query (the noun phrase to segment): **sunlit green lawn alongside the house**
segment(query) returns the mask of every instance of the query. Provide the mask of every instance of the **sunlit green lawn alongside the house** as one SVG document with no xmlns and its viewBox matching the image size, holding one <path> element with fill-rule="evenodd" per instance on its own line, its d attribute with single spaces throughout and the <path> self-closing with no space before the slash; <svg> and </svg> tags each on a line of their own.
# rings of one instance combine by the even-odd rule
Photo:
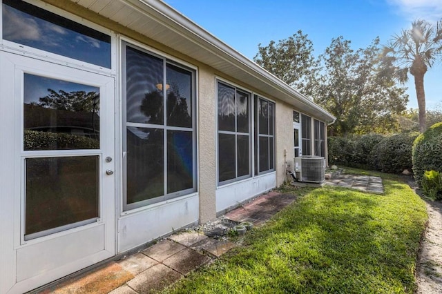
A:
<svg viewBox="0 0 442 294">
<path fill-rule="evenodd" d="M 165 292 L 413 293 L 425 204 L 399 177 L 376 175 L 385 195 L 285 188 L 294 204 Z"/>
</svg>

